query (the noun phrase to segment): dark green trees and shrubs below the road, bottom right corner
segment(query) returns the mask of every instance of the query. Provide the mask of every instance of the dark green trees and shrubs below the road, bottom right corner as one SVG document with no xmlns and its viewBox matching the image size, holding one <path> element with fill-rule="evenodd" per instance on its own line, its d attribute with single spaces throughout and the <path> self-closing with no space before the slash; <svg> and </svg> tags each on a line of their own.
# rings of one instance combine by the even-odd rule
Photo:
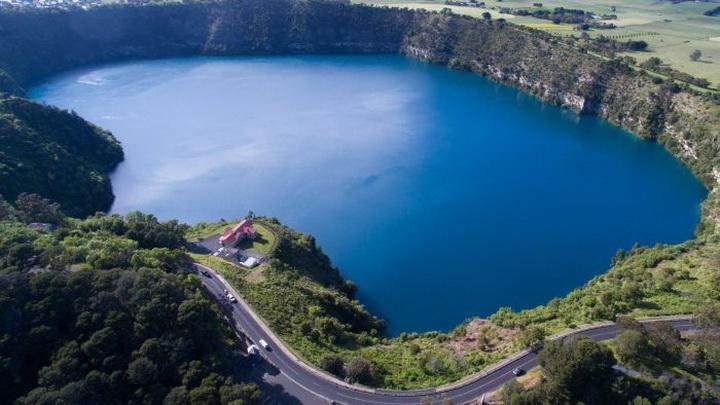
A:
<svg viewBox="0 0 720 405">
<path fill-rule="evenodd" d="M 700 332 L 687 337 L 668 323 L 623 317 L 610 344 L 584 337 L 548 342 L 532 379 L 511 381 L 492 397 L 517 405 L 716 404 L 719 309 L 701 309 L 695 320 Z"/>
</svg>

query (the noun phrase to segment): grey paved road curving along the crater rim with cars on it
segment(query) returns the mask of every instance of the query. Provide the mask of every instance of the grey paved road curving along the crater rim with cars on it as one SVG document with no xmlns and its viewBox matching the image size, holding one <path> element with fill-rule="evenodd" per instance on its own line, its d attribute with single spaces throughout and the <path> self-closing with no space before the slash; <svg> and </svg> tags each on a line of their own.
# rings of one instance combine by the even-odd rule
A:
<svg viewBox="0 0 720 405">
<path fill-rule="evenodd" d="M 529 370 L 537 364 L 537 355 L 525 351 L 487 373 L 480 373 L 462 383 L 437 389 L 386 391 L 353 387 L 299 360 L 282 346 L 277 337 L 221 276 L 201 264 L 196 263 L 195 268 L 198 272 L 202 269 L 209 272 L 209 277 L 201 275 L 202 283 L 219 302 L 226 302 L 223 294 L 225 289 L 239 299 L 231 310 L 235 327 L 255 343 L 260 339 L 270 343 L 271 350 L 263 351 L 263 357 L 279 370 L 281 375 L 276 376 L 276 382 L 303 404 L 328 404 L 330 401 L 353 405 L 419 404 L 424 398 L 430 399 L 432 403 L 440 403 L 444 397 L 449 397 L 455 404 L 479 404 L 479 398 L 483 393 L 493 391 L 514 378 L 513 369 L 520 367 Z M 694 329 L 689 317 L 672 319 L 668 322 L 680 331 Z M 615 325 L 609 324 L 578 331 L 572 335 L 581 334 L 601 341 L 615 337 L 616 333 Z"/>
</svg>

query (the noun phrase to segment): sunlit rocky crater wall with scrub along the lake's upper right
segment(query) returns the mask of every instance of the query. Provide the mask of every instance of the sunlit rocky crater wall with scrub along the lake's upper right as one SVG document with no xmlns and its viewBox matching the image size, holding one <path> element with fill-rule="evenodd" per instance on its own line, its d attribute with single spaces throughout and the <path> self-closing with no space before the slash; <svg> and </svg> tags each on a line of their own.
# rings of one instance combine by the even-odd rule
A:
<svg viewBox="0 0 720 405">
<path fill-rule="evenodd" d="M 416 14 L 401 51 L 519 87 L 545 101 L 597 114 L 663 143 L 714 187 L 720 173 L 720 106 L 629 67 L 501 21 Z"/>
</svg>

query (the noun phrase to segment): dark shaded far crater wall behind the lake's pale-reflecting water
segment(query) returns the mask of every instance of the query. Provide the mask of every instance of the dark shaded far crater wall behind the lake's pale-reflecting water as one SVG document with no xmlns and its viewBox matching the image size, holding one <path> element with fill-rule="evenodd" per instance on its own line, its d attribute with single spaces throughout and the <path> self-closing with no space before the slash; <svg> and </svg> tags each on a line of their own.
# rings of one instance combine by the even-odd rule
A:
<svg viewBox="0 0 720 405">
<path fill-rule="evenodd" d="M 128 58 L 397 53 L 411 18 L 409 11 L 312 0 L 0 13 L 0 69 L 27 83 Z"/>
</svg>

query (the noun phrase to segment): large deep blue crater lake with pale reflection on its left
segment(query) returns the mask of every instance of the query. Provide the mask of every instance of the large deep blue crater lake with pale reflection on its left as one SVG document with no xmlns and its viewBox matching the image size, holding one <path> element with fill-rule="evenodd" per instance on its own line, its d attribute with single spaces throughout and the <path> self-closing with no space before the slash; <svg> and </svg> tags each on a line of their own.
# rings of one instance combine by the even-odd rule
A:
<svg viewBox="0 0 720 405">
<path fill-rule="evenodd" d="M 391 335 L 561 296 L 619 248 L 691 238 L 706 195 L 657 144 L 400 56 L 140 61 L 30 95 L 122 141 L 113 212 L 276 216 Z"/>
</svg>

